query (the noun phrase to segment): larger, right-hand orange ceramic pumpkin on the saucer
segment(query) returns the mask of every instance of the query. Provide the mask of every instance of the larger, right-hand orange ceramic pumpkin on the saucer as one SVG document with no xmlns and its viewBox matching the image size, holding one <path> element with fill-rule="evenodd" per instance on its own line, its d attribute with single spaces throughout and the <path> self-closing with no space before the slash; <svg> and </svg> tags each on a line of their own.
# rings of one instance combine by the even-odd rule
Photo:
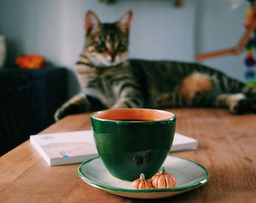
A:
<svg viewBox="0 0 256 203">
<path fill-rule="evenodd" d="M 176 185 L 175 177 L 172 174 L 167 173 L 164 168 L 161 168 L 160 172 L 154 174 L 151 177 L 151 186 L 157 188 L 171 188 Z"/>
</svg>

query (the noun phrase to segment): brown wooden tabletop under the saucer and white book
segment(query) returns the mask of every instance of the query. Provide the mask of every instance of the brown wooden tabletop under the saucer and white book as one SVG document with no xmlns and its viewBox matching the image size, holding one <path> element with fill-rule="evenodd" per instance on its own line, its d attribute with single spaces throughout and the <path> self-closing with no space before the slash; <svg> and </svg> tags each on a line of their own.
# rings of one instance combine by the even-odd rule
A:
<svg viewBox="0 0 256 203">
<path fill-rule="evenodd" d="M 197 138 L 197 150 L 172 153 L 199 162 L 206 185 L 171 198 L 123 198 L 87 185 L 79 164 L 50 167 L 29 141 L 0 158 L 0 202 L 256 202 L 256 114 L 219 109 L 172 109 L 177 132 Z M 69 116 L 41 133 L 90 129 L 90 114 Z"/>
</svg>

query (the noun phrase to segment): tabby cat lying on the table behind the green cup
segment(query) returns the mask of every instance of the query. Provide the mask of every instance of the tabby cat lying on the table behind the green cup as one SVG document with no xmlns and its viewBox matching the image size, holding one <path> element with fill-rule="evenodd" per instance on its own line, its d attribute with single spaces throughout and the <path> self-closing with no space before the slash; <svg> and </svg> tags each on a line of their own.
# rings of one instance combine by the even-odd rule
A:
<svg viewBox="0 0 256 203">
<path fill-rule="evenodd" d="M 127 59 L 132 12 L 116 23 L 85 15 L 86 43 L 75 72 L 81 93 L 55 114 L 107 108 L 228 108 L 232 114 L 256 109 L 256 88 L 220 71 L 187 62 Z"/>
</svg>

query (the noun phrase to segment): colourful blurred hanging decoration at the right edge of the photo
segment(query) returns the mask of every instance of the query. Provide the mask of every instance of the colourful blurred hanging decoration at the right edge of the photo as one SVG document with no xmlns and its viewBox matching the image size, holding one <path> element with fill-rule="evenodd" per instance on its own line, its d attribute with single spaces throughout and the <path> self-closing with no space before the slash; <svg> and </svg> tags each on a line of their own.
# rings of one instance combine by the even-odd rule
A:
<svg viewBox="0 0 256 203">
<path fill-rule="evenodd" d="M 245 29 L 249 29 L 251 23 L 254 20 L 253 12 L 250 9 L 248 9 L 245 12 L 245 18 L 246 18 L 246 24 Z M 255 59 L 255 50 L 256 50 L 256 36 L 255 32 L 253 33 L 252 37 L 247 41 L 245 44 L 245 65 L 248 68 L 247 71 L 245 71 L 245 80 L 248 86 L 256 86 L 256 74 L 255 74 L 255 66 L 256 66 L 256 59 Z"/>
</svg>

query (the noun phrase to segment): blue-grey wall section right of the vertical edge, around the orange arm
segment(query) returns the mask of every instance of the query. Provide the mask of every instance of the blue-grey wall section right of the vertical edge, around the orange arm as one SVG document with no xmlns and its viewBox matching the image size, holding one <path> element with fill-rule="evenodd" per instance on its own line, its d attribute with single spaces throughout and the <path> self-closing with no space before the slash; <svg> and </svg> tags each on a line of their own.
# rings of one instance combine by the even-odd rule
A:
<svg viewBox="0 0 256 203">
<path fill-rule="evenodd" d="M 242 0 L 236 10 L 227 7 L 224 0 L 200 1 L 199 28 L 197 38 L 197 53 L 207 53 L 236 47 L 245 33 L 245 11 L 249 8 L 247 1 Z M 246 67 L 245 53 L 239 56 L 223 56 L 204 61 L 218 70 L 224 71 L 231 77 L 244 80 Z"/>
</svg>

